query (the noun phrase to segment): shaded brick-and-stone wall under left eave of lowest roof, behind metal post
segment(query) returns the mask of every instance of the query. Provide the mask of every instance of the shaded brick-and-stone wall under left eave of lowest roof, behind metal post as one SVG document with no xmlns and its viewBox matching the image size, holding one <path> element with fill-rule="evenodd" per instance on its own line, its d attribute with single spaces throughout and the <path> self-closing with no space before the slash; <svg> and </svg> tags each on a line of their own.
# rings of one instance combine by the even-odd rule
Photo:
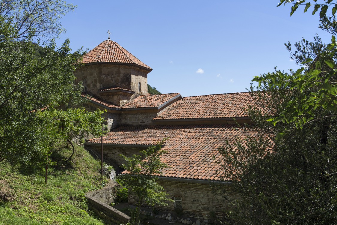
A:
<svg viewBox="0 0 337 225">
<path fill-rule="evenodd" d="M 101 146 L 89 145 L 87 146 L 95 151 L 96 155 L 101 155 Z M 121 172 L 120 166 L 125 163 L 120 154 L 130 157 L 133 154 L 140 154 L 139 152 L 147 147 L 120 147 L 120 146 L 104 146 L 103 145 L 103 162 L 109 163 L 115 168 L 116 173 Z"/>
</svg>

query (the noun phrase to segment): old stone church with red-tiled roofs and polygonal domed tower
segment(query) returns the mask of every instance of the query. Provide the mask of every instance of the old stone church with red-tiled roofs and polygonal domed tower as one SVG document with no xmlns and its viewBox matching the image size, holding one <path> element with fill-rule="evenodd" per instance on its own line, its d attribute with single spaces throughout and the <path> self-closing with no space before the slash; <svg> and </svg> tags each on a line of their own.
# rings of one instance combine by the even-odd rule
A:
<svg viewBox="0 0 337 225">
<path fill-rule="evenodd" d="M 216 176 L 217 149 L 247 135 L 236 123 L 251 123 L 244 110 L 253 102 L 250 94 L 148 94 L 152 69 L 110 38 L 85 54 L 83 63 L 75 76 L 76 82 L 83 82 L 84 94 L 90 95 L 87 108 L 106 110 L 110 132 L 103 137 L 103 161 L 119 173 L 119 154 L 138 154 L 169 138 L 163 146 L 168 153 L 161 160 L 170 167 L 158 180 L 174 200 L 165 209 L 223 216 L 238 196 Z M 100 138 L 85 143 L 97 155 L 100 145 Z M 212 192 L 210 184 L 219 182 L 228 186 L 225 193 Z M 129 202 L 135 199 L 130 196 Z"/>
</svg>

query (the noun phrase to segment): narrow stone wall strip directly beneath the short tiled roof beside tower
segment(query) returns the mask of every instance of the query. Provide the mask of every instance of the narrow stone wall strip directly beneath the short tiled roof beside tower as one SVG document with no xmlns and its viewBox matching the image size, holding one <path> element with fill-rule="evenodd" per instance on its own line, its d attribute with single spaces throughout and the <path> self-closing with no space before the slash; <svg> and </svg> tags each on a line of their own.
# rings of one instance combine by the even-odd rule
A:
<svg viewBox="0 0 337 225">
<path fill-rule="evenodd" d="M 125 113 L 121 115 L 121 124 L 127 125 L 153 125 L 152 119 L 157 113 Z"/>
</svg>

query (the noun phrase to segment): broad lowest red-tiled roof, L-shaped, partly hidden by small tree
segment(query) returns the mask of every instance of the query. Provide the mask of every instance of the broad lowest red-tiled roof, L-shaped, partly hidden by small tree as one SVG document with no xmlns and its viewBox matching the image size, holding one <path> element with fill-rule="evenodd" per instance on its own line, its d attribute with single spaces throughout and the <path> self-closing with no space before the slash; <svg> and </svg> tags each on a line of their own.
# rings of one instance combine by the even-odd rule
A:
<svg viewBox="0 0 337 225">
<path fill-rule="evenodd" d="M 133 145 L 155 145 L 165 137 L 169 139 L 163 147 L 168 153 L 161 161 L 170 168 L 162 170 L 164 177 L 189 178 L 201 180 L 219 180 L 215 176 L 220 159 L 218 147 L 226 141 L 234 143 L 236 138 L 256 135 L 250 129 L 236 125 L 163 125 L 163 126 L 122 126 L 107 136 L 103 143 Z M 100 138 L 88 143 L 100 143 Z M 212 157 L 215 156 L 216 160 Z"/>
</svg>

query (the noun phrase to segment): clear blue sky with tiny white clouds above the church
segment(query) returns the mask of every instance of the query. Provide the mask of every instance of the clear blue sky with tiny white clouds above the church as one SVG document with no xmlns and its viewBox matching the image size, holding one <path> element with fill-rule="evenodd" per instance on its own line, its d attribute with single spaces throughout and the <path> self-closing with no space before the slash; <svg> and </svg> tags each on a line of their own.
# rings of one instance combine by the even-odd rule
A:
<svg viewBox="0 0 337 225">
<path fill-rule="evenodd" d="M 108 38 L 150 66 L 148 83 L 182 96 L 246 91 L 254 76 L 298 66 L 284 43 L 318 33 L 319 17 L 278 0 L 72 0 L 61 20 L 73 50 Z M 236 3 L 236 4 L 234 4 Z"/>
</svg>

